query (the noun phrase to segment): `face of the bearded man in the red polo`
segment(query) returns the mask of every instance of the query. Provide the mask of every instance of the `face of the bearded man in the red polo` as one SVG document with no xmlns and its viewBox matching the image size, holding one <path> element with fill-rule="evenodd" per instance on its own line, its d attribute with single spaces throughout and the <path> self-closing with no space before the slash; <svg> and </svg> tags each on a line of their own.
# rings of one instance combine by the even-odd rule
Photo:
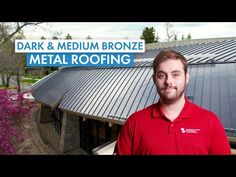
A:
<svg viewBox="0 0 236 177">
<path fill-rule="evenodd" d="M 180 60 L 170 59 L 159 64 L 153 80 L 160 99 L 171 104 L 184 97 L 189 75 L 185 74 Z"/>
</svg>

